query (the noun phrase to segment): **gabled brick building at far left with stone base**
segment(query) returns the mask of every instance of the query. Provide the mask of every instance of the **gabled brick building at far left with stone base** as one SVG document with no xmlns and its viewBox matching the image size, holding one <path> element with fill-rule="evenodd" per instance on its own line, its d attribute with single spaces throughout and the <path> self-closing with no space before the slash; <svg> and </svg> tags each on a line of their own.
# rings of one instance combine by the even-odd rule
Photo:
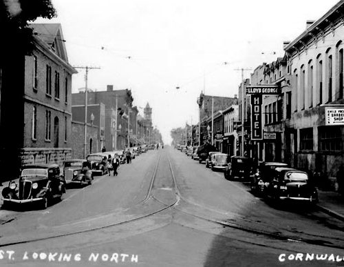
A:
<svg viewBox="0 0 344 267">
<path fill-rule="evenodd" d="M 71 156 L 76 70 L 68 63 L 60 24 L 30 27 L 32 55 L 16 55 L 1 70 L 1 164 L 17 169 L 31 163 L 61 164 Z"/>
</svg>

